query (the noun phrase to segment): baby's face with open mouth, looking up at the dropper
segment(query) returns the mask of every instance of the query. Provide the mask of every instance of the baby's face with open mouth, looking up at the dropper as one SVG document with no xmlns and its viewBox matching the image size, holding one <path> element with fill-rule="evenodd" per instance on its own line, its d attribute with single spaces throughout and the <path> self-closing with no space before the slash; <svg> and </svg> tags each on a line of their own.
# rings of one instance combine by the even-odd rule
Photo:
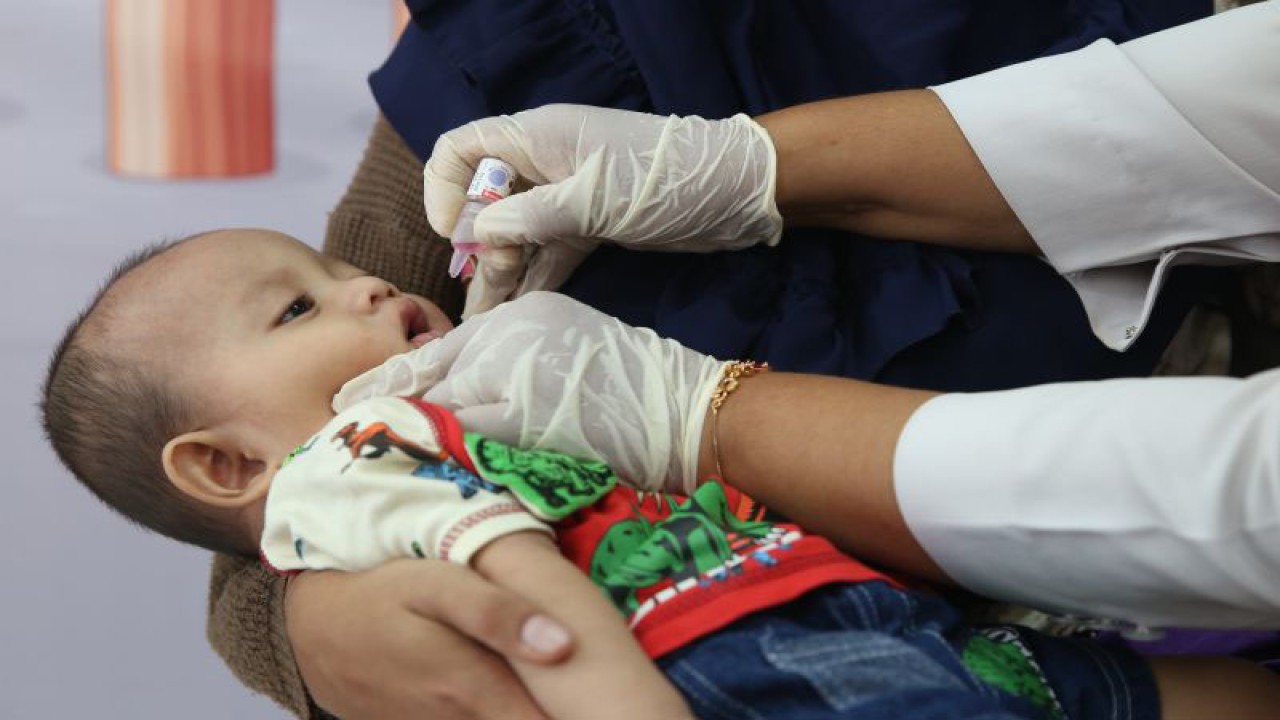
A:
<svg viewBox="0 0 1280 720">
<path fill-rule="evenodd" d="M 180 387 L 214 421 L 287 454 L 330 416 L 360 373 L 453 328 L 433 302 L 285 234 L 219 231 L 156 260 L 159 325 Z"/>
</svg>

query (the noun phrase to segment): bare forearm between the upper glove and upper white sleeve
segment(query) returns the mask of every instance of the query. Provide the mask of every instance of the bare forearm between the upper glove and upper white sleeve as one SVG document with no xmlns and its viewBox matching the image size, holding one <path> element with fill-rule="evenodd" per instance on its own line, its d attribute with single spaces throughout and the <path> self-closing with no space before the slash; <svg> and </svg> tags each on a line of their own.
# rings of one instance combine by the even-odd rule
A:
<svg viewBox="0 0 1280 720">
<path fill-rule="evenodd" d="M 1038 251 L 928 90 L 824 100 L 756 120 L 777 150 L 777 202 L 788 224 Z"/>
</svg>

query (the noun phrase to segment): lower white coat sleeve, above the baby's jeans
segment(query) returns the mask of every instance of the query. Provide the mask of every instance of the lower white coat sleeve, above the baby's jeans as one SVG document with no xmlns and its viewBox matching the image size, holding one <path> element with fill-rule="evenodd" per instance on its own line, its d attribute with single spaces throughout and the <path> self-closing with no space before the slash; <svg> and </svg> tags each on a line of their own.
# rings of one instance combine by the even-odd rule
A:
<svg viewBox="0 0 1280 720">
<path fill-rule="evenodd" d="M 1280 626 L 1280 370 L 943 395 L 895 457 L 961 585 L 1148 625 Z"/>
</svg>

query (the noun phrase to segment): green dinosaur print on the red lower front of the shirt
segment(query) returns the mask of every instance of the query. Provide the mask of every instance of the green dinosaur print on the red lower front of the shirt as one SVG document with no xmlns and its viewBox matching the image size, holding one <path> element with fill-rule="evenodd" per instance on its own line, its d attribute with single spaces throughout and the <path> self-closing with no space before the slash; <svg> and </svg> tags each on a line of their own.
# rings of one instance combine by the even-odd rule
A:
<svg viewBox="0 0 1280 720">
<path fill-rule="evenodd" d="M 640 606 L 636 591 L 723 568 L 735 555 L 735 539 L 765 538 L 773 528 L 733 515 L 716 483 L 701 486 L 684 502 L 667 502 L 671 514 L 662 520 L 637 515 L 609 528 L 591 557 L 591 580 L 627 615 Z"/>
</svg>

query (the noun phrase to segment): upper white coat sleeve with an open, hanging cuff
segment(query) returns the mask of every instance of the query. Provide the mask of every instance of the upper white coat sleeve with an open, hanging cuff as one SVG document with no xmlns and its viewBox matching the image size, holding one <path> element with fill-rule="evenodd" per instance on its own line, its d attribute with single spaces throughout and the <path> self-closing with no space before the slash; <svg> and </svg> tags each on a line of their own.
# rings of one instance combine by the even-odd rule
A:
<svg viewBox="0 0 1280 720">
<path fill-rule="evenodd" d="M 1170 266 L 1280 260 L 1280 0 L 934 87 L 1094 333 Z"/>
</svg>

